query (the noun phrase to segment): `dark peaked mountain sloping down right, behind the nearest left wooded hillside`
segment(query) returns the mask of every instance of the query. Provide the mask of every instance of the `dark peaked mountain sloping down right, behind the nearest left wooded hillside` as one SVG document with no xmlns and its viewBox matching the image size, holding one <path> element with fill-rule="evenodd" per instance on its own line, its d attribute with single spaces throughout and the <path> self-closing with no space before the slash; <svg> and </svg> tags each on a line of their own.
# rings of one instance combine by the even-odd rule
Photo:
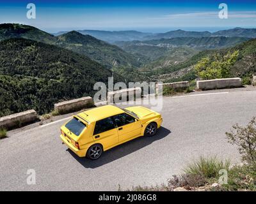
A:
<svg viewBox="0 0 256 204">
<path fill-rule="evenodd" d="M 58 40 L 55 42 L 55 45 L 84 54 L 100 64 L 108 66 L 108 68 L 140 66 L 140 62 L 133 55 L 90 35 L 72 31 L 56 38 Z"/>
</svg>

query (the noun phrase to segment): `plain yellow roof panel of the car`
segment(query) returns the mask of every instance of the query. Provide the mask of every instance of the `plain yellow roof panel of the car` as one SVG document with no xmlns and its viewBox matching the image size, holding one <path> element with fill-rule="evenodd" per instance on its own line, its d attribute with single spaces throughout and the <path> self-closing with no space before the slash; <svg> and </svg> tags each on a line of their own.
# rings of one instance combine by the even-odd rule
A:
<svg viewBox="0 0 256 204">
<path fill-rule="evenodd" d="M 77 117 L 81 117 L 88 122 L 95 122 L 120 113 L 124 113 L 124 110 L 113 105 L 106 105 L 86 110 L 77 114 Z"/>
</svg>

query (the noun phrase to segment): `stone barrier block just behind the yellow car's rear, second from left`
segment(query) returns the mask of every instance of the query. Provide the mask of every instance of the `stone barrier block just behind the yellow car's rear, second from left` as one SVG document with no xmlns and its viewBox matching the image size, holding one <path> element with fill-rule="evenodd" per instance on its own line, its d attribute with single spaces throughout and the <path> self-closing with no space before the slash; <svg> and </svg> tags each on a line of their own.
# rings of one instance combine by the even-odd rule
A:
<svg viewBox="0 0 256 204">
<path fill-rule="evenodd" d="M 58 113 L 69 113 L 88 108 L 93 106 L 93 99 L 90 96 L 84 98 L 73 99 L 70 101 L 63 101 L 61 103 L 54 104 L 54 110 Z"/>
</svg>

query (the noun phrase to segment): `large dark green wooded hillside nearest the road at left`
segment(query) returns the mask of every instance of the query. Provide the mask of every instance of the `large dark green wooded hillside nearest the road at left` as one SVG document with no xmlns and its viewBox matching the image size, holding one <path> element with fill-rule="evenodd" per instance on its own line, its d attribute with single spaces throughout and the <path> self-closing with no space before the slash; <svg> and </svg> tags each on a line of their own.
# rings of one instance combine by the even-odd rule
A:
<svg viewBox="0 0 256 204">
<path fill-rule="evenodd" d="M 22 38 L 0 42 L 0 117 L 34 108 L 52 110 L 63 99 L 93 95 L 110 70 L 64 48 Z M 122 81 L 115 75 L 116 81 Z"/>
</svg>

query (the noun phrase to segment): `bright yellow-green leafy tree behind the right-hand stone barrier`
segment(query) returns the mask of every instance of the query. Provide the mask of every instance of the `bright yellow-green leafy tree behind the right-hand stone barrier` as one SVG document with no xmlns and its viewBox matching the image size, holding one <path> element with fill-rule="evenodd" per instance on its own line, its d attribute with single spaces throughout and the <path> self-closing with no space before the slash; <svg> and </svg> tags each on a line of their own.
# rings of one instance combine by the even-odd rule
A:
<svg viewBox="0 0 256 204">
<path fill-rule="evenodd" d="M 230 69 L 236 63 L 238 55 L 239 51 L 237 50 L 232 54 L 228 52 L 226 55 L 219 52 L 214 55 L 213 60 L 210 57 L 205 57 L 196 64 L 196 74 L 203 80 L 231 77 Z"/>
</svg>

